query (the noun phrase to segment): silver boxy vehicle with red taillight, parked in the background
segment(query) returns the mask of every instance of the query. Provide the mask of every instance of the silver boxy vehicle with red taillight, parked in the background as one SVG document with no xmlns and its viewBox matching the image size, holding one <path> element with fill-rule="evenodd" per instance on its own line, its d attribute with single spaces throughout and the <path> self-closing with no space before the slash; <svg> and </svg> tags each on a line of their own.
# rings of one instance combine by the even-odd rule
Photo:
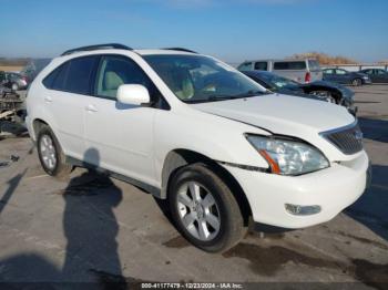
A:
<svg viewBox="0 0 388 290">
<path fill-rule="evenodd" d="M 268 71 L 299 83 L 309 83 L 323 79 L 319 62 L 310 59 L 246 61 L 237 69 L 242 72 Z"/>
</svg>

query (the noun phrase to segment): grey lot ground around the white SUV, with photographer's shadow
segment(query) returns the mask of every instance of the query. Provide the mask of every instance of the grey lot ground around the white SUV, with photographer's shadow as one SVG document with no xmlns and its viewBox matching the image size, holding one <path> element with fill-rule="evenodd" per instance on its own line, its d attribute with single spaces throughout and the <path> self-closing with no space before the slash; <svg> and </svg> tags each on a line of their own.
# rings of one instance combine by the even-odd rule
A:
<svg viewBox="0 0 388 290">
<path fill-rule="evenodd" d="M 83 169 L 57 180 L 40 168 L 29 138 L 1 141 L 0 160 L 20 159 L 0 168 L 0 281 L 309 281 L 387 289 L 388 86 L 356 91 L 374 172 L 367 193 L 325 225 L 251 232 L 224 255 L 190 246 L 163 205 L 136 187 Z"/>
</svg>

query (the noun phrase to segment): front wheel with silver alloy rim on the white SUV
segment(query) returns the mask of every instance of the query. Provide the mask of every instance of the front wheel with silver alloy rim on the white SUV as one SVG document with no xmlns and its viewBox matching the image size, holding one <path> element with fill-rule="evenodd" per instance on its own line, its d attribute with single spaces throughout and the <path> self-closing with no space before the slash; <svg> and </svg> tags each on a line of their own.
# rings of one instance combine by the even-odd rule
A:
<svg viewBox="0 0 388 290">
<path fill-rule="evenodd" d="M 204 164 L 178 169 L 169 187 L 169 201 L 181 234 L 205 251 L 226 251 L 246 232 L 231 189 Z"/>
</svg>

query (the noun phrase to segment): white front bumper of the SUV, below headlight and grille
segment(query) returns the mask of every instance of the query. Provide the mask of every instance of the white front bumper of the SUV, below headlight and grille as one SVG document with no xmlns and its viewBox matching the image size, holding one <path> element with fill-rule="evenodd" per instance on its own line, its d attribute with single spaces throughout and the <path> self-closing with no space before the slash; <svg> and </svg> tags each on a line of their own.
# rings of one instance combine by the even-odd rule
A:
<svg viewBox="0 0 388 290">
<path fill-rule="evenodd" d="M 282 228 L 304 228 L 326 222 L 365 191 L 368 156 L 302 176 L 280 176 L 223 165 L 239 183 L 256 222 Z M 320 206 L 318 214 L 297 216 L 285 205 Z"/>
</svg>

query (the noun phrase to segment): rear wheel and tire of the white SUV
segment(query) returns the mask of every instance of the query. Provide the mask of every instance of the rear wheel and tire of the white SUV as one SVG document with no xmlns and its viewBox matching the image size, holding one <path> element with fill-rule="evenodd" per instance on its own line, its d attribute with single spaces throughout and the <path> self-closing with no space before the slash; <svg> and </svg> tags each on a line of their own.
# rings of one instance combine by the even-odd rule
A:
<svg viewBox="0 0 388 290">
<path fill-rule="evenodd" d="M 40 163 L 48 175 L 61 179 L 69 176 L 72 166 L 65 163 L 61 145 L 48 125 L 41 126 L 38 133 L 37 146 Z"/>
</svg>

